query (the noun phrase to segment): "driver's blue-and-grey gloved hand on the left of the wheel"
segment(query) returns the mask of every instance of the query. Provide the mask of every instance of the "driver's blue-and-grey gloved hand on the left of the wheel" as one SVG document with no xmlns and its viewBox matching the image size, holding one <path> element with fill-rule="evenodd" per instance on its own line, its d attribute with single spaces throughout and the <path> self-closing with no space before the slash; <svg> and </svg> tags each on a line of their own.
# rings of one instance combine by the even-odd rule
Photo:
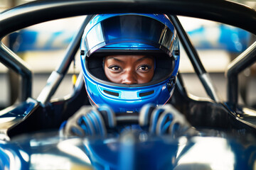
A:
<svg viewBox="0 0 256 170">
<path fill-rule="evenodd" d="M 60 135 L 68 136 L 101 136 L 107 135 L 107 128 L 114 128 L 116 120 L 114 112 L 109 106 L 82 106 L 78 112 L 70 117 Z"/>
</svg>

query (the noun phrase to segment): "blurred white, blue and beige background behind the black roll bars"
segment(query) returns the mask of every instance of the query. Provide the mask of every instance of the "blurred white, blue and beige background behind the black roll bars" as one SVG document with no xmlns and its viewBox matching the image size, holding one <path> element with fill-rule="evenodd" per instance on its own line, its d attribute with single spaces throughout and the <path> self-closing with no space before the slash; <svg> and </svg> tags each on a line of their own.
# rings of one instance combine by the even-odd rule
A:
<svg viewBox="0 0 256 170">
<path fill-rule="evenodd" d="M 0 0 L 0 10 L 26 3 L 28 0 Z M 251 8 L 256 7 L 256 1 L 236 1 Z M 58 21 L 50 21 L 18 30 L 4 38 L 4 44 L 21 57 L 31 67 L 33 72 L 32 97 L 37 98 L 50 73 L 58 66 L 65 55 L 65 50 L 72 40 L 85 16 L 66 18 Z M 225 70 L 235 57 L 238 57 L 252 42 L 255 35 L 247 33 L 240 28 L 226 26 L 213 21 L 196 18 L 178 17 L 188 33 L 189 38 L 198 50 L 198 55 L 204 67 L 210 74 L 220 98 L 226 100 Z M 73 90 L 72 74 L 79 74 L 80 59 L 76 56 L 56 91 L 53 98 L 63 98 Z M 198 77 L 181 46 L 180 73 L 185 86 L 193 96 L 208 98 L 203 91 Z M 241 73 L 239 81 L 239 103 L 255 107 L 256 103 L 256 69 L 255 64 Z M 19 78 L 16 73 L 7 69 L 0 63 L 0 107 L 5 108 L 15 103 L 18 94 L 17 84 Z M 12 83 L 11 83 L 12 82 Z"/>
</svg>

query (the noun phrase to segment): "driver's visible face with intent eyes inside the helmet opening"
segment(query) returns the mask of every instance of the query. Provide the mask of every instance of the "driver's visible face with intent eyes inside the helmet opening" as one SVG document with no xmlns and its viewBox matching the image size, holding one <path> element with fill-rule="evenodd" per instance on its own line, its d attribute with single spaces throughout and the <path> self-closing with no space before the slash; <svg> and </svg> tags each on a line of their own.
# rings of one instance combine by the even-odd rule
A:
<svg viewBox="0 0 256 170">
<path fill-rule="evenodd" d="M 107 79 L 117 84 L 144 84 L 154 76 L 154 57 L 147 55 L 110 55 L 105 57 Z"/>
</svg>

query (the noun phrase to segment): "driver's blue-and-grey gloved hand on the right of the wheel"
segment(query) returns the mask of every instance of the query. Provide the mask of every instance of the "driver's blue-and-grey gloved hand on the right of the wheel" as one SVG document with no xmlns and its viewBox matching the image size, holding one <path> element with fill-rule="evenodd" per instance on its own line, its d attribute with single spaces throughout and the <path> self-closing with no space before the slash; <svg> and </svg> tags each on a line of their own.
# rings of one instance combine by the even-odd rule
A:
<svg viewBox="0 0 256 170">
<path fill-rule="evenodd" d="M 139 113 L 139 125 L 149 128 L 151 134 L 169 134 L 172 137 L 182 135 L 191 127 L 184 115 L 171 104 L 157 107 L 146 104 Z"/>
</svg>

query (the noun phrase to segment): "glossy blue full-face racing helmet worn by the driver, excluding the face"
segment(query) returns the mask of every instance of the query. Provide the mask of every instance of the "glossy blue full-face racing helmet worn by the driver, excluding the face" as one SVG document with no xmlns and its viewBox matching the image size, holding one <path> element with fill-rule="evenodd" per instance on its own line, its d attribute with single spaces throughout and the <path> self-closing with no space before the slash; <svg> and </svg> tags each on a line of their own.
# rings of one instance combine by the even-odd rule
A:
<svg viewBox="0 0 256 170">
<path fill-rule="evenodd" d="M 81 42 L 85 88 L 95 106 L 115 113 L 139 112 L 146 103 L 164 105 L 174 91 L 179 64 L 176 30 L 164 14 L 100 14 L 87 24 Z M 107 55 L 153 55 L 154 77 L 145 84 L 116 84 L 104 72 Z"/>
</svg>

